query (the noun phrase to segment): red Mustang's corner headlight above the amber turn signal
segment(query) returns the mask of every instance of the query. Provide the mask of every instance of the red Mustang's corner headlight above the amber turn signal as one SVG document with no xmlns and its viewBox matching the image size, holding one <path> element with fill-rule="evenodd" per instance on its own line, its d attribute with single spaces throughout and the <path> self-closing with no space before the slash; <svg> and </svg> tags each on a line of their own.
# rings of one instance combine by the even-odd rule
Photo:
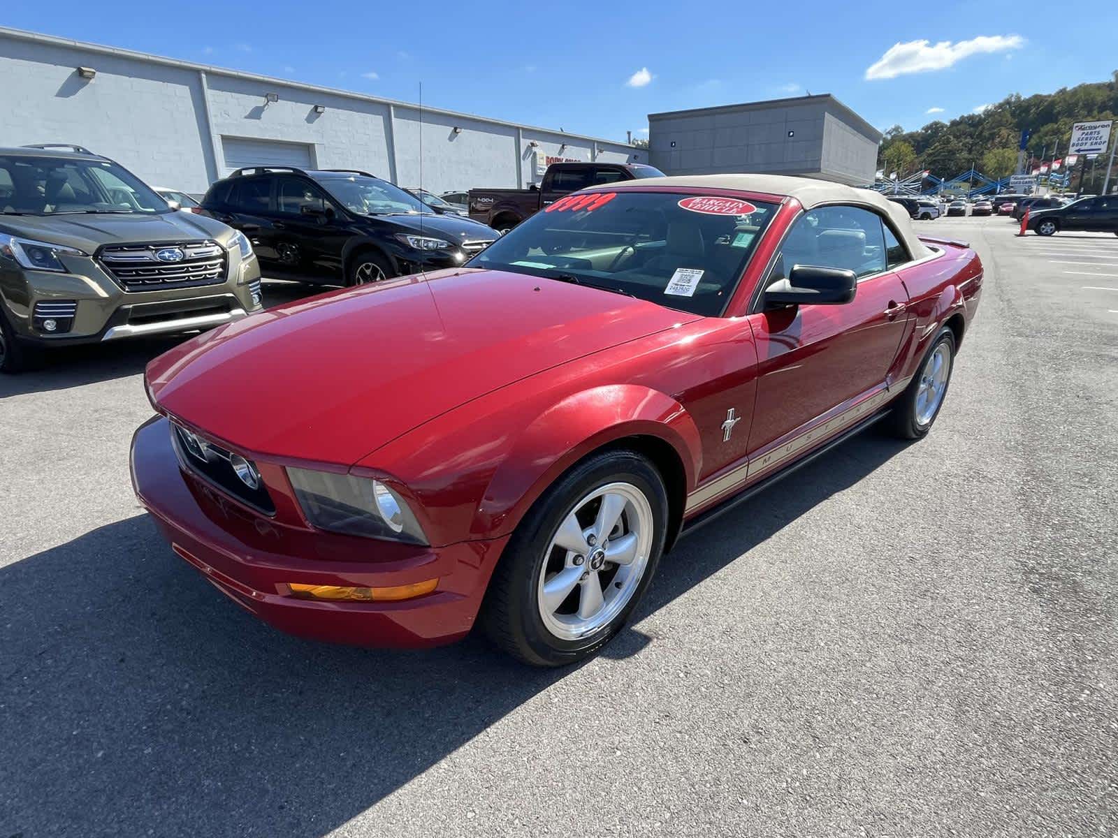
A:
<svg viewBox="0 0 1118 838">
<path fill-rule="evenodd" d="M 380 480 L 288 468 L 287 477 L 312 524 L 335 533 L 426 544 L 404 498 Z"/>
</svg>

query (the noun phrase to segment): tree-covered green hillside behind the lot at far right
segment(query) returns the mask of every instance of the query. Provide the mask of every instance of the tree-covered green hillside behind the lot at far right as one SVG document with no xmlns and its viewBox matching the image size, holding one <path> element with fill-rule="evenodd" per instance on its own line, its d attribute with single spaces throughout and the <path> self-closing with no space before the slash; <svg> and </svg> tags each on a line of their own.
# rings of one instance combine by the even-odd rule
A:
<svg viewBox="0 0 1118 838">
<path fill-rule="evenodd" d="M 1004 178 L 1016 165 L 1022 131 L 1032 132 L 1027 154 L 1040 161 L 1043 152 L 1045 160 L 1052 160 L 1053 151 L 1062 158 L 1068 150 L 1072 123 L 1110 120 L 1116 114 L 1118 70 L 1109 82 L 1063 87 L 1027 98 L 1013 94 L 982 113 L 947 123 L 932 122 L 919 131 L 906 132 L 894 125 L 882 140 L 878 168 L 887 175 L 897 172 L 901 178 L 922 169 L 938 178 L 953 178 L 974 164 L 989 178 Z M 1116 140 L 1112 132 L 1110 141 Z M 1102 159 L 1097 163 L 1099 184 L 1106 163 Z M 1111 182 L 1114 178 L 1111 173 Z"/>
</svg>

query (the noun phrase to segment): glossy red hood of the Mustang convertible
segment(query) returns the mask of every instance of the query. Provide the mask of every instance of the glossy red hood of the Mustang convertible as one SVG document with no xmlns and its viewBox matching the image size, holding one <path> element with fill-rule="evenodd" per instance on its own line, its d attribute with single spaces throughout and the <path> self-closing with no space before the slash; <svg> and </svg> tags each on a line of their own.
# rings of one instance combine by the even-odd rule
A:
<svg viewBox="0 0 1118 838">
<path fill-rule="evenodd" d="M 351 466 L 435 417 L 695 315 L 597 288 L 457 269 L 290 303 L 148 366 L 160 410 L 275 461 Z"/>
</svg>

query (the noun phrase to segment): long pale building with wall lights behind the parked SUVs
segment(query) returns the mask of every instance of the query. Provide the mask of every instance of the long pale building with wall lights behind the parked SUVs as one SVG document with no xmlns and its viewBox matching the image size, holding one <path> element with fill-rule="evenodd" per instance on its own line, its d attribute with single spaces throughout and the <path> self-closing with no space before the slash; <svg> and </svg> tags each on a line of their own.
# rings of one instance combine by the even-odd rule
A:
<svg viewBox="0 0 1118 838">
<path fill-rule="evenodd" d="M 423 185 L 437 193 L 523 188 L 551 159 L 648 162 L 623 142 L 3 27 L 0 92 L 0 145 L 77 143 L 193 193 L 260 163 L 414 187 L 421 154 Z"/>
</svg>

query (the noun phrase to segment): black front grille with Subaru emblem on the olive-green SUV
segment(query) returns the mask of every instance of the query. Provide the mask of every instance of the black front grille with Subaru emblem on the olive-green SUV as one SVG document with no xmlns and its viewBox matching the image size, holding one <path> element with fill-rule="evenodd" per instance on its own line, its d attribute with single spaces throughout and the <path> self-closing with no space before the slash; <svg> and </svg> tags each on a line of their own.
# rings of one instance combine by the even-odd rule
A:
<svg viewBox="0 0 1118 838">
<path fill-rule="evenodd" d="M 228 254 L 216 241 L 113 245 L 97 253 L 102 266 L 124 291 L 192 287 L 225 282 Z"/>
</svg>

